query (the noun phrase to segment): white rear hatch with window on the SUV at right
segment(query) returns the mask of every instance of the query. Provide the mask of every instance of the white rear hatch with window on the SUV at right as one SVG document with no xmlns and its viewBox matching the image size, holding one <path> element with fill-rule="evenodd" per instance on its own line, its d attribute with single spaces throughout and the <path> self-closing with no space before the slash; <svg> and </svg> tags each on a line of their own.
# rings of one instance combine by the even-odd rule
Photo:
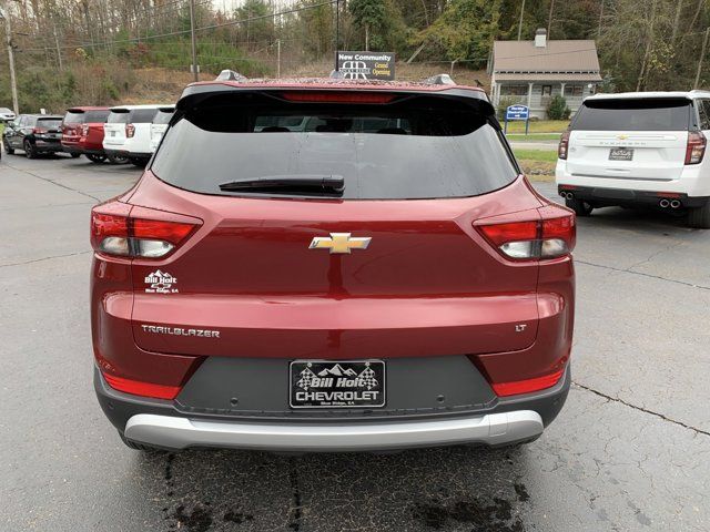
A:
<svg viewBox="0 0 710 532">
<path fill-rule="evenodd" d="M 571 124 L 567 171 L 580 177 L 677 180 L 690 117 L 684 99 L 587 100 Z"/>
</svg>

